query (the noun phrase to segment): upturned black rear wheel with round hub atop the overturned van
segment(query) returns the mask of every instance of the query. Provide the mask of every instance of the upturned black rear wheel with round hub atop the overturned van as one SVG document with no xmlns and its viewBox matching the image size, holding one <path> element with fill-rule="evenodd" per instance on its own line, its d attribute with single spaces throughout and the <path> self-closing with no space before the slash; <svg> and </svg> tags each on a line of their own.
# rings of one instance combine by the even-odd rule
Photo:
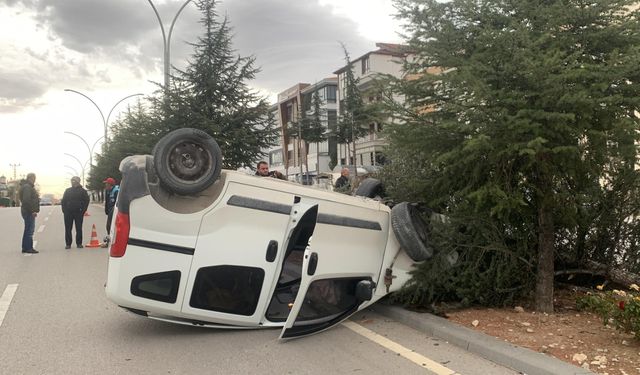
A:
<svg viewBox="0 0 640 375">
<path fill-rule="evenodd" d="M 211 186 L 222 168 L 220 146 L 199 129 L 183 128 L 162 137 L 153 152 L 153 166 L 162 186 L 180 194 L 197 194 Z"/>
</svg>

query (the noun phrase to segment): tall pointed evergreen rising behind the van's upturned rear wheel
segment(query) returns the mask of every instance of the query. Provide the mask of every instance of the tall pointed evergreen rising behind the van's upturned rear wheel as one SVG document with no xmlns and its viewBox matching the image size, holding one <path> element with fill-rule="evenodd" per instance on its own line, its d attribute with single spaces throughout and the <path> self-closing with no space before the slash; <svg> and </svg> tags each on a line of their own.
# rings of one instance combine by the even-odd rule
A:
<svg viewBox="0 0 640 375">
<path fill-rule="evenodd" d="M 267 99 L 247 84 L 259 69 L 253 57 L 235 55 L 232 29 L 226 17 L 218 20 L 216 1 L 194 3 L 202 11 L 204 34 L 192 44 L 186 69 L 173 77 L 163 130 L 202 129 L 220 145 L 225 168 L 253 166 L 277 135 Z"/>
</svg>

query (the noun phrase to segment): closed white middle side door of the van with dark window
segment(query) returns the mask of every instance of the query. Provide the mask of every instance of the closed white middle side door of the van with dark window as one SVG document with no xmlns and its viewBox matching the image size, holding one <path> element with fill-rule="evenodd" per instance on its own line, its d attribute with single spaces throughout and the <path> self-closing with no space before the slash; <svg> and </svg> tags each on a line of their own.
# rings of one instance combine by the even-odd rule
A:
<svg viewBox="0 0 640 375">
<path fill-rule="evenodd" d="M 268 200 L 262 197 L 268 197 Z M 204 215 L 182 313 L 192 319 L 257 327 L 280 275 L 293 195 L 230 183 Z"/>
</svg>

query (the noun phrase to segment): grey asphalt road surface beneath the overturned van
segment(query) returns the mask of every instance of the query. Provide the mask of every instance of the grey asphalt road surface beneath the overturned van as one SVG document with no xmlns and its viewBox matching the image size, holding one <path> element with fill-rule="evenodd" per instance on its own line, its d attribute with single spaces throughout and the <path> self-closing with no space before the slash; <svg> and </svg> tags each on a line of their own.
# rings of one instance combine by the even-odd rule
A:
<svg viewBox="0 0 640 375">
<path fill-rule="evenodd" d="M 105 235 L 89 212 L 85 243 Z M 36 220 L 40 254 L 21 254 L 22 228 L 0 208 L 0 374 L 517 374 L 371 311 L 287 342 L 142 318 L 107 300 L 107 249 L 64 249 L 59 206 Z"/>
</svg>

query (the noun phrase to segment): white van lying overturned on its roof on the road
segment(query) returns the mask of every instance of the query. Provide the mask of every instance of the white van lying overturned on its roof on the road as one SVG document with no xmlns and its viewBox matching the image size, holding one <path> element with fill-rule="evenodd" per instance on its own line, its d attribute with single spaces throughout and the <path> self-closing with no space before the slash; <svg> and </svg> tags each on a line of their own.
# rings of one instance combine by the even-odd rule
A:
<svg viewBox="0 0 640 375">
<path fill-rule="evenodd" d="M 109 299 L 134 313 L 219 328 L 325 330 L 431 257 L 411 205 L 221 170 L 195 129 L 127 157 L 111 233 Z"/>
</svg>

